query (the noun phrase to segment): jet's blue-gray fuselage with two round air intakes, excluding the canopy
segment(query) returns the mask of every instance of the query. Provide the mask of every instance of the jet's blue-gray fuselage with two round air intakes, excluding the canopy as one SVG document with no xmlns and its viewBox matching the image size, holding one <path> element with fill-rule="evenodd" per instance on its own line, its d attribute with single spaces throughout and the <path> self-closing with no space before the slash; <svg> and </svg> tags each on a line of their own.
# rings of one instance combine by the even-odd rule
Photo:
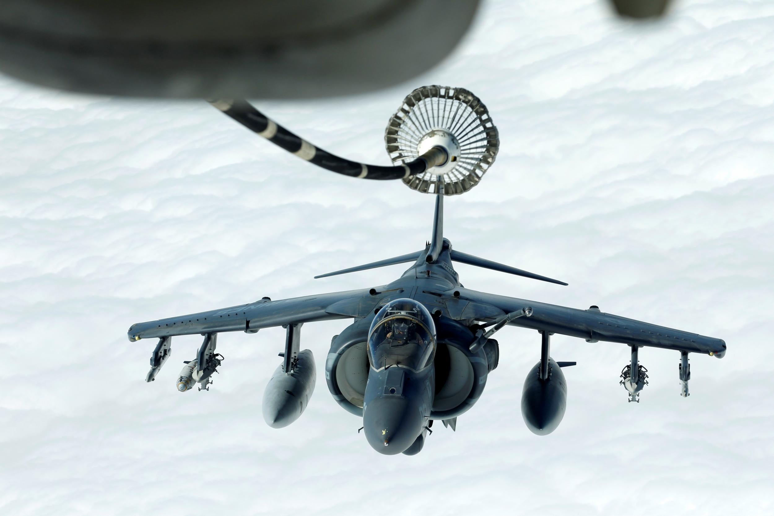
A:
<svg viewBox="0 0 774 516">
<path fill-rule="evenodd" d="M 426 262 L 427 251 L 389 285 L 374 289 L 375 303 L 368 315 L 355 320 L 334 337 L 326 378 L 334 399 L 348 412 L 363 417 L 368 443 L 379 453 L 417 453 L 431 419 L 454 419 L 478 400 L 487 374 L 496 367 L 497 343 L 471 352 L 474 320 L 461 320 L 459 309 L 439 295 L 461 286 L 444 239 L 437 260 Z M 385 296 L 386 295 L 386 296 Z M 430 367 L 372 364 L 365 352 L 368 329 L 375 313 L 396 299 L 413 299 L 432 314 L 437 354 Z"/>
</svg>

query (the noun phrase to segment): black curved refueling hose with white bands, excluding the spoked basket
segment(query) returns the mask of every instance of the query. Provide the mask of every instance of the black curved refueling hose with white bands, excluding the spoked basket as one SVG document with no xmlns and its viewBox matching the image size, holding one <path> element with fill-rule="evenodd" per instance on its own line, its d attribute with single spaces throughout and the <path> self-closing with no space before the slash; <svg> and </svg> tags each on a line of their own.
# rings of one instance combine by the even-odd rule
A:
<svg viewBox="0 0 774 516">
<path fill-rule="evenodd" d="M 289 132 L 282 125 L 268 118 L 265 114 L 255 109 L 245 100 L 219 99 L 210 101 L 215 108 L 228 114 L 241 125 L 262 136 L 287 152 L 297 155 L 301 159 L 314 163 L 324 169 L 344 176 L 358 177 L 361 179 L 403 179 L 409 176 L 421 174 L 433 166 L 444 165 L 449 159 L 449 154 L 442 147 L 433 147 L 420 157 L 403 165 L 380 166 L 366 165 L 340 158 L 330 152 L 319 149 L 303 138 Z"/>
</svg>

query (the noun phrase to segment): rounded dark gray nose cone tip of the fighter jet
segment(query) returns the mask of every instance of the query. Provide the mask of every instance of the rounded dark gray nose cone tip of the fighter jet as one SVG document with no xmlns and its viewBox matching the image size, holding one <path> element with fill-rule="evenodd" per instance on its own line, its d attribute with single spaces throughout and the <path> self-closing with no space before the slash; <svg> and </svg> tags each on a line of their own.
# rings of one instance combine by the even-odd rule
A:
<svg viewBox="0 0 774 516">
<path fill-rule="evenodd" d="M 374 398 L 363 411 L 365 439 L 383 455 L 408 449 L 422 432 L 422 422 L 419 407 L 402 396 Z"/>
</svg>

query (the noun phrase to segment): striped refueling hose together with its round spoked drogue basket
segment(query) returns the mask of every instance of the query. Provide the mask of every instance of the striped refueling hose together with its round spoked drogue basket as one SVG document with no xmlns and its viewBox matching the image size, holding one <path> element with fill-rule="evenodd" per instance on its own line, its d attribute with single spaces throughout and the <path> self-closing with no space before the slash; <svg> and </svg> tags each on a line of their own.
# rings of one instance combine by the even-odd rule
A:
<svg viewBox="0 0 774 516">
<path fill-rule="evenodd" d="M 210 103 L 269 142 L 331 172 L 361 179 L 402 179 L 422 193 L 458 195 L 471 190 L 495 161 L 500 145 L 485 104 L 458 87 L 418 87 L 403 99 L 385 129 L 392 166 L 366 165 L 330 154 L 244 99 Z"/>
</svg>

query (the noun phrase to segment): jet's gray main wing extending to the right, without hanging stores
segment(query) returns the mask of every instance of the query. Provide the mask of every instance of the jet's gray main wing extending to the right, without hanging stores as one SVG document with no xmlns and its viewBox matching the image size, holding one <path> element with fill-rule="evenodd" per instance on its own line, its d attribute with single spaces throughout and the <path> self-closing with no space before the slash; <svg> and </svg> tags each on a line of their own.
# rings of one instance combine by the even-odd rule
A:
<svg viewBox="0 0 774 516">
<path fill-rule="evenodd" d="M 457 292 L 461 300 L 493 306 L 503 313 L 512 313 L 526 307 L 533 309 L 532 316 L 514 319 L 509 323 L 512 326 L 580 337 L 590 341 L 602 340 L 637 346 L 662 347 L 668 350 L 711 354 L 719 358 L 724 356 L 726 350 L 726 343 L 721 339 L 615 316 L 600 312 L 596 308 L 585 310 L 567 308 L 469 289 L 457 289 Z"/>
</svg>

